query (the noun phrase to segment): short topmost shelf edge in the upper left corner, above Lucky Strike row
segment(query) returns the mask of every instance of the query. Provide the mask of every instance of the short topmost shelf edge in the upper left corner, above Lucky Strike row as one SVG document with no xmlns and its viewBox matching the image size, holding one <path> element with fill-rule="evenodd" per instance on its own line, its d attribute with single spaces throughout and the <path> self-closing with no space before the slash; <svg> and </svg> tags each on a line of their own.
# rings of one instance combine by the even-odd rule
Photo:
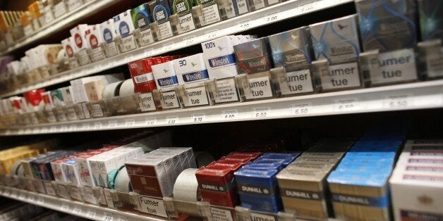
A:
<svg viewBox="0 0 443 221">
<path fill-rule="evenodd" d="M 75 8 L 73 11 L 70 11 L 59 18 L 56 18 L 51 23 L 40 27 L 38 30 L 32 32 L 32 34 L 28 37 L 23 37 L 19 39 L 16 44 L 9 47 L 6 51 L 2 51 L 1 55 L 5 55 L 7 53 L 11 53 L 16 49 L 20 49 L 24 46 L 32 44 L 32 42 L 36 42 L 44 37 L 47 37 L 49 34 L 58 32 L 60 30 L 64 30 L 73 25 L 77 25 L 78 20 L 83 19 L 86 15 L 90 13 L 95 13 L 95 11 L 99 8 L 109 7 L 111 4 L 116 4 L 121 0 L 92 0 L 88 1 L 82 6 Z"/>
</svg>

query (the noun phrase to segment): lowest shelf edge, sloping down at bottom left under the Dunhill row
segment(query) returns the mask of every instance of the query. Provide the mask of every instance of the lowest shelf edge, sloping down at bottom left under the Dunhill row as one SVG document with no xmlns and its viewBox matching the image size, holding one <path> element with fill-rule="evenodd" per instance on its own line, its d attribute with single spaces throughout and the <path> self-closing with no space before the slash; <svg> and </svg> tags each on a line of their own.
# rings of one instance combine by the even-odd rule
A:
<svg viewBox="0 0 443 221">
<path fill-rule="evenodd" d="M 57 210 L 63 213 L 69 213 L 78 217 L 85 217 L 90 220 L 119 220 L 119 221 L 136 221 L 136 220 L 167 220 L 162 217 L 145 215 L 135 212 L 124 212 L 111 208 L 95 206 L 92 204 L 82 203 L 79 201 L 70 201 L 64 198 L 49 196 L 45 194 L 37 194 L 32 191 L 16 189 L 12 187 L 0 186 L 0 196 L 13 198 L 25 203 L 31 203 L 51 210 Z"/>
</svg>

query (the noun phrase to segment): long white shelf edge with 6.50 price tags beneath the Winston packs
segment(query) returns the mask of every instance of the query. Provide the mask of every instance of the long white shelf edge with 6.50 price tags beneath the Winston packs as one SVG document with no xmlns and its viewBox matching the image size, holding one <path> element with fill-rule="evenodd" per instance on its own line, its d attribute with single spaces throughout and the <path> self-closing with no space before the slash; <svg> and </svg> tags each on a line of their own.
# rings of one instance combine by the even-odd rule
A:
<svg viewBox="0 0 443 221">
<path fill-rule="evenodd" d="M 434 80 L 280 99 L 11 127 L 0 130 L 0 135 L 119 130 L 442 107 L 443 80 Z"/>
</svg>

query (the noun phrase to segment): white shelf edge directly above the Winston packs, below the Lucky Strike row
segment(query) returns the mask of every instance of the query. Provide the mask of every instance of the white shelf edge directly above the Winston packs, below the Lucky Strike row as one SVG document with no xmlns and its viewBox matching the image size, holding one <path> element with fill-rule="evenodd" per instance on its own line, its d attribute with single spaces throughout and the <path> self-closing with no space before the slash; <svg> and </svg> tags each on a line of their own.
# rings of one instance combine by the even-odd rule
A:
<svg viewBox="0 0 443 221">
<path fill-rule="evenodd" d="M 286 1 L 284 3 L 270 6 L 259 11 L 254 11 L 252 13 L 231 18 L 220 23 L 215 23 L 214 25 L 202 27 L 198 30 L 193 30 L 191 32 L 180 34 L 169 39 L 164 39 L 162 41 L 155 42 L 154 44 L 150 44 L 148 46 L 144 46 L 133 51 L 121 53 L 117 56 L 106 58 L 102 61 L 91 63 L 89 65 L 84 65 L 73 70 L 61 72 L 58 75 L 51 76 L 51 78 L 44 80 L 44 82 L 31 84 L 26 87 L 21 87 L 13 91 L 8 91 L 4 94 L 0 94 L 0 98 L 22 94 L 25 91 L 48 87 L 79 77 L 85 77 L 87 75 L 102 72 L 104 70 L 115 68 L 120 65 L 126 65 L 126 63 L 137 61 L 142 58 L 158 56 L 168 51 L 183 49 L 191 45 L 207 42 L 211 39 L 217 39 L 229 34 L 236 34 L 238 32 L 253 29 L 255 27 L 269 25 L 271 23 L 277 23 L 281 20 L 297 17 L 299 15 L 311 13 L 313 11 L 320 11 L 322 9 L 330 8 L 333 6 L 339 6 L 341 4 L 346 4 L 352 1 L 353 0 Z"/>
</svg>

